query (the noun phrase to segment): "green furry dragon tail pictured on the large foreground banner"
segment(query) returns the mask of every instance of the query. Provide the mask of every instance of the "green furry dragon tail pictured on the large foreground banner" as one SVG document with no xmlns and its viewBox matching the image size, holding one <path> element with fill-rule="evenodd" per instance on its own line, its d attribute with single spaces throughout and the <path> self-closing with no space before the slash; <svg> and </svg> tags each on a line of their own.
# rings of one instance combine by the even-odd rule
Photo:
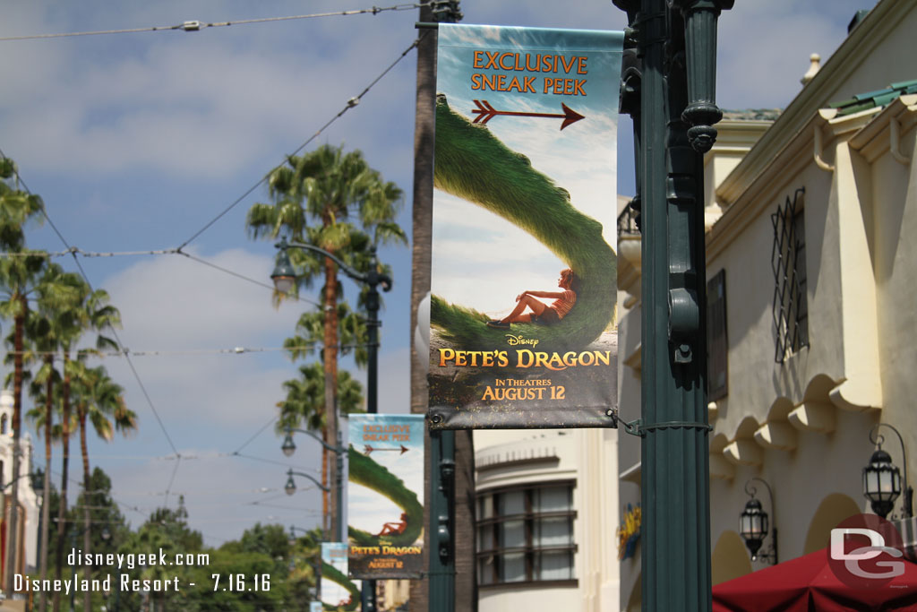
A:
<svg viewBox="0 0 917 612">
<path fill-rule="evenodd" d="M 567 317 L 549 327 L 514 324 L 515 331 L 539 339 L 543 351 L 580 349 L 602 334 L 612 321 L 617 285 L 617 260 L 602 238 L 602 225 L 573 207 L 567 191 L 489 128 L 453 112 L 443 95 L 436 100 L 434 183 L 524 229 L 580 277 L 577 304 Z M 458 346 L 481 350 L 498 341 L 505 345 L 505 332 L 487 328 L 484 318 L 468 308 L 438 300 L 431 305 L 430 320 Z"/>
</svg>

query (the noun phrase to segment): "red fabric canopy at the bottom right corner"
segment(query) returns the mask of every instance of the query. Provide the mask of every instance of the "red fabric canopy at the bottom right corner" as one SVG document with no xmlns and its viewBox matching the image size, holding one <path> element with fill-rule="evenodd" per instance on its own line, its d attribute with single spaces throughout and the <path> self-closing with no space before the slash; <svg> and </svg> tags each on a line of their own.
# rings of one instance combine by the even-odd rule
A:
<svg viewBox="0 0 917 612">
<path fill-rule="evenodd" d="M 878 587 L 845 584 L 812 552 L 713 587 L 713 612 L 894 612 L 917 610 L 917 564 Z"/>
</svg>

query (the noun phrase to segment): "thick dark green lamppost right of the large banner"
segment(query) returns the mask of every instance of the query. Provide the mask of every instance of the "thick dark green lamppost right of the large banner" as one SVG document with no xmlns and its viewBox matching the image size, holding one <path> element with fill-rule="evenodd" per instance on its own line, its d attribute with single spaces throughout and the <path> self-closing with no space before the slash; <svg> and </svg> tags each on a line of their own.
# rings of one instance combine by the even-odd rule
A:
<svg viewBox="0 0 917 612">
<path fill-rule="evenodd" d="M 702 156 L 716 138 L 716 19 L 732 0 L 616 0 L 636 73 L 642 257 L 643 609 L 712 607 Z M 639 98 L 639 109 L 633 104 Z"/>
</svg>

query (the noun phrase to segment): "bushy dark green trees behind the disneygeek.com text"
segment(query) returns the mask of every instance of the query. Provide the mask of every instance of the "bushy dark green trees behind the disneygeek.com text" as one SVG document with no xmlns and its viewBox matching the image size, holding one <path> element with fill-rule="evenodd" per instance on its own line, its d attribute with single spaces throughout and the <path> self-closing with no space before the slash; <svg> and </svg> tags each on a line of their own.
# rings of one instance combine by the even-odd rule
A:
<svg viewBox="0 0 917 612">
<path fill-rule="evenodd" d="M 161 549 L 168 560 L 177 553 L 186 558 L 189 554 L 194 555 L 193 560 L 182 566 L 141 565 L 137 556 L 134 557 L 137 562 L 133 568 L 124 567 L 120 572 L 116 566 L 95 566 L 92 577 L 105 580 L 110 575 L 112 590 L 107 594 L 93 593 L 92 610 L 102 609 L 103 605 L 114 609 L 117 602 L 117 609 L 123 612 L 144 609 L 308 612 L 315 592 L 315 569 L 321 557 L 321 529 L 308 531 L 301 538 L 291 538 L 280 525 L 256 523 L 238 540 L 227 541 L 218 548 L 208 548 L 204 546 L 202 534 L 188 526 L 188 512 L 181 497 L 177 507 L 157 508 L 142 525 L 131 530 L 112 499 L 108 475 L 95 468 L 90 486 L 88 495 L 80 495 L 76 505 L 66 514 L 63 541 L 67 551 L 72 547 L 83 548 L 83 506 L 89 506 L 92 508 L 93 554 L 153 553 L 158 557 Z M 61 497 L 51 484 L 49 504 L 52 516 L 60 503 Z M 104 528 L 107 529 L 105 537 Z M 50 549 L 53 550 L 58 538 L 55 529 L 51 530 L 50 538 Z M 82 572 L 80 568 L 77 571 Z M 70 566 L 67 566 L 63 577 L 70 579 L 71 572 Z M 120 591 L 120 573 L 127 574 L 128 580 L 165 581 L 177 577 L 180 589 L 177 593 L 150 593 L 147 602 L 147 596 L 142 592 Z M 213 574 L 219 575 L 216 589 Z M 244 576 L 241 591 L 235 589 L 235 581 L 230 588 L 229 576 L 239 574 Z M 192 583 L 194 586 L 191 586 Z M 66 597 L 64 599 L 66 609 L 70 602 Z M 74 606 L 79 612 L 83 611 L 82 594 L 74 597 Z"/>
</svg>

